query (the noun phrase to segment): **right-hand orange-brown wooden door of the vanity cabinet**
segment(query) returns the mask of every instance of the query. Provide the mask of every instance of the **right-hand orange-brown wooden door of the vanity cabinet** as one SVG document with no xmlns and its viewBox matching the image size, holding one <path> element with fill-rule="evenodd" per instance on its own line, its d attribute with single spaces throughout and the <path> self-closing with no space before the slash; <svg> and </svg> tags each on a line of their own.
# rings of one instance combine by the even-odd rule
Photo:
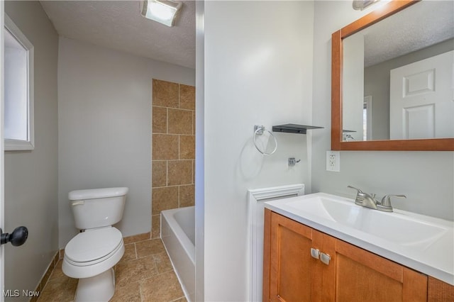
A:
<svg viewBox="0 0 454 302">
<path fill-rule="evenodd" d="M 427 301 L 427 276 L 323 235 L 323 301 Z"/>
</svg>

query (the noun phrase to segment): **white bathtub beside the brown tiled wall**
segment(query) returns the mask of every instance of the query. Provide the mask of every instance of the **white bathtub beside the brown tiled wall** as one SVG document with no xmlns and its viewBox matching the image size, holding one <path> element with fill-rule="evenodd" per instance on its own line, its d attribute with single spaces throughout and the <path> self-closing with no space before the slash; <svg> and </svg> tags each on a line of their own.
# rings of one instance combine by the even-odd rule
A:
<svg viewBox="0 0 454 302">
<path fill-rule="evenodd" d="M 195 301 L 194 206 L 161 212 L 161 239 L 189 302 Z"/>
</svg>

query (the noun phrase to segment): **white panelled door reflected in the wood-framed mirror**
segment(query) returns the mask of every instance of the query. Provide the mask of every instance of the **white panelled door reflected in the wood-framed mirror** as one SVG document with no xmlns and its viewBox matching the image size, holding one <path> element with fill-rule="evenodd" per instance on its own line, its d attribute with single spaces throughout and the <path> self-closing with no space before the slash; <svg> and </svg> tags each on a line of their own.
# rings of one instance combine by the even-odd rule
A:
<svg viewBox="0 0 454 302">
<path fill-rule="evenodd" d="M 391 70 L 392 140 L 454 138 L 454 51 Z"/>
</svg>

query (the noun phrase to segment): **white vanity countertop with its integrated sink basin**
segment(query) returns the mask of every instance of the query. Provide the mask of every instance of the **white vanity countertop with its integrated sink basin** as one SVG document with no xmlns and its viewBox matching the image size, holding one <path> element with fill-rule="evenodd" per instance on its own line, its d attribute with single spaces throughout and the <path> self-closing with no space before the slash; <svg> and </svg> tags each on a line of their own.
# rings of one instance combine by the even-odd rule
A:
<svg viewBox="0 0 454 302">
<path fill-rule="evenodd" d="M 265 208 L 454 285 L 453 221 L 377 211 L 324 193 L 267 201 Z"/>
</svg>

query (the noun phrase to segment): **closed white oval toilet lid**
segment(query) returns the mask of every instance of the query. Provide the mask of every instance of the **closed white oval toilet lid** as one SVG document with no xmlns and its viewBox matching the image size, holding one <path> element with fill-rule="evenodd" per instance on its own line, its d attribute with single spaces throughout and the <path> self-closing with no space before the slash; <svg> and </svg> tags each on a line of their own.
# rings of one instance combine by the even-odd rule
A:
<svg viewBox="0 0 454 302">
<path fill-rule="evenodd" d="M 72 262 L 91 262 L 114 252 L 123 242 L 116 228 L 86 230 L 77 234 L 65 247 L 65 256 Z"/>
</svg>

